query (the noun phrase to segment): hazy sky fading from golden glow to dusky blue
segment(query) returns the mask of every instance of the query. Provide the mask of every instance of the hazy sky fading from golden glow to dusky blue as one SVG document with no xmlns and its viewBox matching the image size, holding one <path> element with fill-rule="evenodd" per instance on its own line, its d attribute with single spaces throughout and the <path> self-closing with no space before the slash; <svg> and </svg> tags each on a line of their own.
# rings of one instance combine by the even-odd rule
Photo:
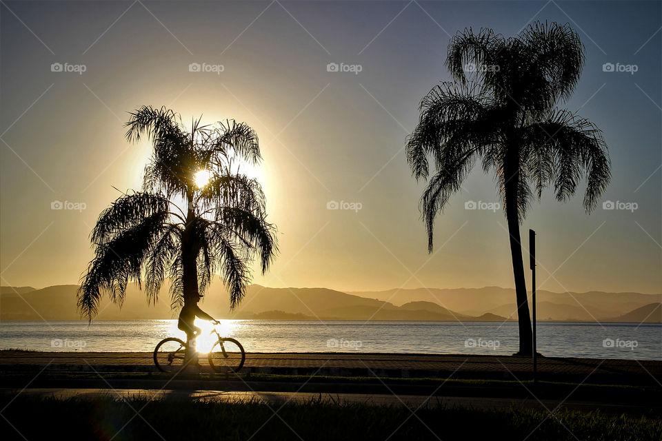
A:
<svg viewBox="0 0 662 441">
<path fill-rule="evenodd" d="M 538 232 L 539 287 L 662 291 L 659 1 L 6 1 L 0 14 L 2 285 L 77 283 L 90 229 L 119 196 L 112 186 L 140 186 L 150 145 L 126 143 L 122 125 L 147 104 L 257 130 L 264 161 L 254 173 L 281 253 L 256 283 L 512 287 L 503 212 L 465 209 L 498 201 L 492 176 L 477 167 L 465 181 L 430 256 L 424 183 L 403 145 L 421 98 L 449 79 L 449 34 L 512 35 L 540 19 L 581 35 L 586 64 L 566 107 L 603 129 L 613 174 L 603 201 L 630 210 L 600 203 L 586 215 L 584 185 L 570 203 L 543 194 L 522 225 L 523 237 Z"/>
</svg>

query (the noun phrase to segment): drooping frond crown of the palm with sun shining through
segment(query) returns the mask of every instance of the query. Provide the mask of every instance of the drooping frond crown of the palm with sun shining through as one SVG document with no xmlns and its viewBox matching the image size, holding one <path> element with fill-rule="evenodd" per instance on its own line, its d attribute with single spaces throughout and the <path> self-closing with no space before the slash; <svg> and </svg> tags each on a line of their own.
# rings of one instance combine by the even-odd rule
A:
<svg viewBox="0 0 662 441">
<path fill-rule="evenodd" d="M 277 252 L 260 184 L 241 174 L 239 161 L 261 160 L 248 125 L 192 122 L 165 107 L 130 114 L 126 139 L 146 135 L 154 151 L 143 189 L 123 194 L 92 230 L 94 259 L 78 291 L 81 313 L 97 314 L 102 292 L 121 305 L 129 282 L 144 283 L 149 302 L 170 279 L 173 309 L 195 302 L 219 271 L 236 307 L 250 283 L 257 255 L 264 273 Z"/>
</svg>

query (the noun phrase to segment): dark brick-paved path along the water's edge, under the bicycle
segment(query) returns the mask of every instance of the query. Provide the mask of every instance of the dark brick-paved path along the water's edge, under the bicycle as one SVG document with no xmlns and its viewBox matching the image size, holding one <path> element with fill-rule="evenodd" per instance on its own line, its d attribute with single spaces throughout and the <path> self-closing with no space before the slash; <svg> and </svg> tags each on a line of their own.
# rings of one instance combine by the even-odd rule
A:
<svg viewBox="0 0 662 441">
<path fill-rule="evenodd" d="M 201 356 L 201 363 L 206 360 Z M 0 371 L 156 371 L 152 353 L 1 351 Z M 206 367 L 208 369 L 208 367 Z M 330 376 L 530 378 L 530 358 L 388 353 L 248 353 L 252 373 Z M 203 368 L 203 371 L 206 369 Z M 639 382 L 662 386 L 662 361 L 539 358 L 541 378 Z"/>
</svg>

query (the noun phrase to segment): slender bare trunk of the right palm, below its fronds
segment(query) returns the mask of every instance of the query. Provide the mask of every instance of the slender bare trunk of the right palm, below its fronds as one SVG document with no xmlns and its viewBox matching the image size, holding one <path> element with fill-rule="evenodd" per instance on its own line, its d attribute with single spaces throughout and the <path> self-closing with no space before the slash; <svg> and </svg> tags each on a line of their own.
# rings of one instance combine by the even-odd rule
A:
<svg viewBox="0 0 662 441">
<path fill-rule="evenodd" d="M 517 183 L 519 181 L 519 167 L 512 167 L 512 173 L 506 171 L 505 177 L 505 217 L 508 220 L 510 233 L 510 256 L 512 258 L 512 273 L 515 279 L 515 298 L 517 301 L 517 321 L 519 324 L 519 352 L 518 355 L 530 356 L 533 353 L 533 336 L 531 318 L 529 316 L 529 302 L 526 294 L 524 279 L 524 265 L 522 261 L 522 245 L 519 234 L 519 213 L 517 207 Z"/>
</svg>

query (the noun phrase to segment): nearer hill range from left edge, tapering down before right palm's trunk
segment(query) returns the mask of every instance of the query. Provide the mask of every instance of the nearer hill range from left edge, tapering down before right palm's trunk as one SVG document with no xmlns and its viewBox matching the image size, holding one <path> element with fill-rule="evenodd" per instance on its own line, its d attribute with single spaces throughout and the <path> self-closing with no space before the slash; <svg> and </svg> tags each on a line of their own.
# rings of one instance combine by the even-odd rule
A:
<svg viewBox="0 0 662 441">
<path fill-rule="evenodd" d="M 9 290 L 0 296 L 1 320 L 78 320 L 77 285 L 57 285 L 26 294 Z M 251 285 L 236 311 L 230 312 L 228 294 L 217 284 L 201 307 L 217 318 L 262 320 L 476 320 L 431 302 L 397 307 L 389 302 L 364 298 L 325 288 L 268 288 Z M 167 291 L 157 305 L 148 305 L 146 295 L 135 285 L 127 288 L 119 309 L 107 298 L 95 320 L 139 320 L 174 318 Z M 490 317 L 493 320 L 505 318 Z"/>
</svg>

